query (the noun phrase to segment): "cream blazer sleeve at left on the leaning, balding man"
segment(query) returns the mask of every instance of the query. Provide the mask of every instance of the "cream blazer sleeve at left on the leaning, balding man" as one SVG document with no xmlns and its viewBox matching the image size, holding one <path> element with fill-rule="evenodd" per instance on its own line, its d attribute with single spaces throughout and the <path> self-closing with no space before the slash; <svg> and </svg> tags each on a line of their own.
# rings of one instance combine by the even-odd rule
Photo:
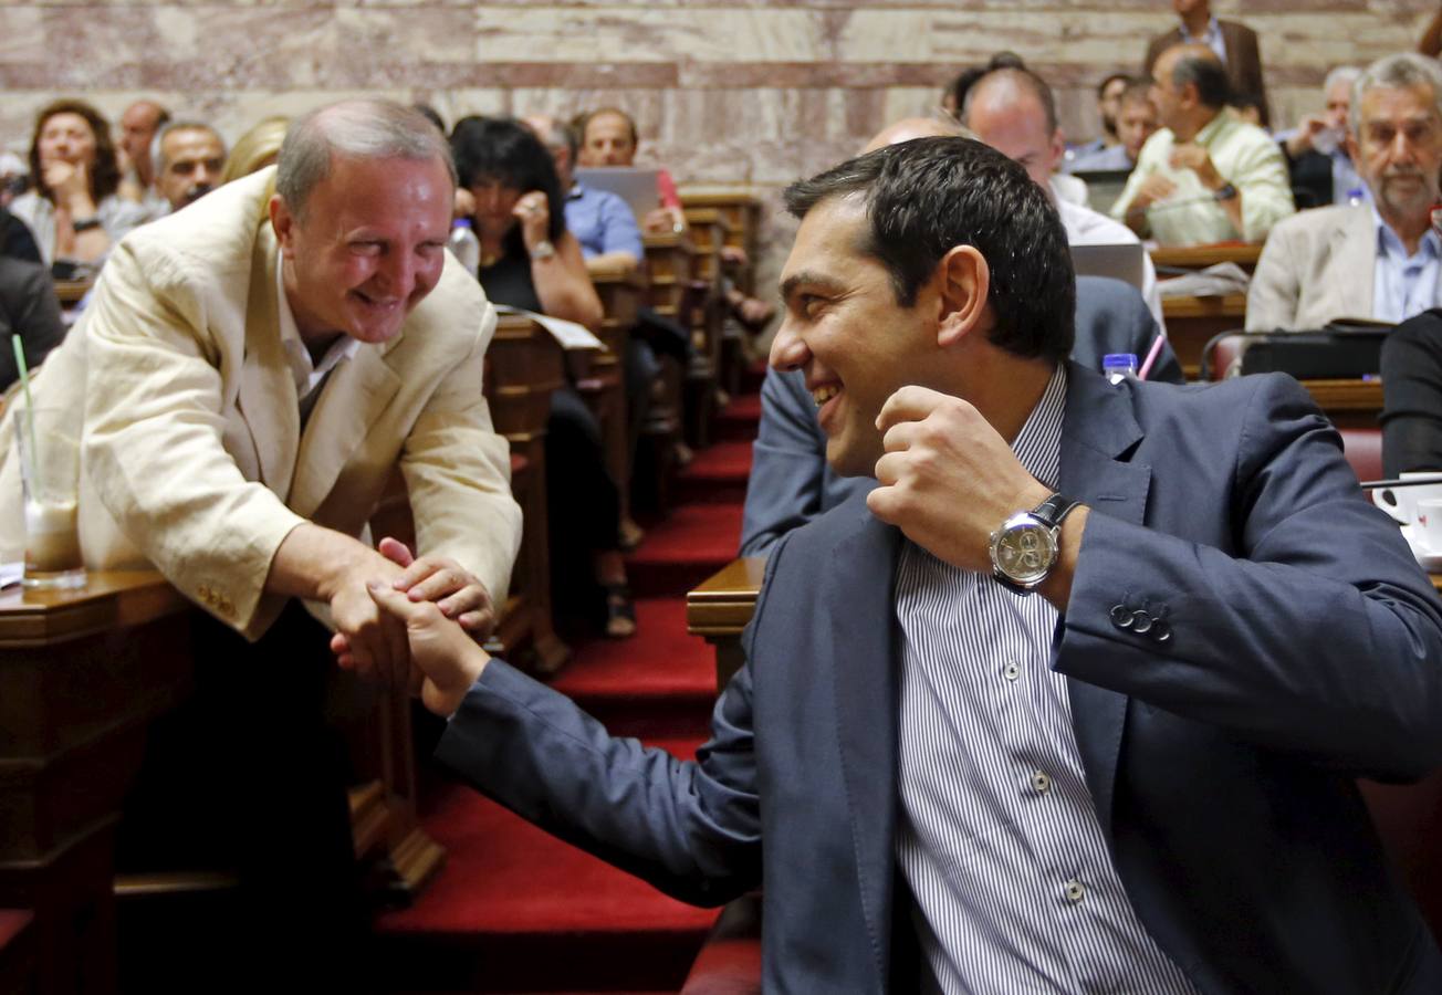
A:
<svg viewBox="0 0 1442 995">
<path fill-rule="evenodd" d="M 75 332 L 88 353 L 87 472 L 146 560 L 254 639 L 270 620 L 258 609 L 271 560 L 304 519 L 225 450 L 212 316 L 186 274 L 137 244 L 110 254 Z"/>
</svg>

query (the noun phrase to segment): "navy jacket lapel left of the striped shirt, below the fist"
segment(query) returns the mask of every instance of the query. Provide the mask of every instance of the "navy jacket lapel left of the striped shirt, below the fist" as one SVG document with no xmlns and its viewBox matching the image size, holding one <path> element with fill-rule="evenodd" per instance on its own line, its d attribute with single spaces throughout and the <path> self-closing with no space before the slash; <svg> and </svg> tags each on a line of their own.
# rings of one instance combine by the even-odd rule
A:
<svg viewBox="0 0 1442 995">
<path fill-rule="evenodd" d="M 862 913 L 877 965 L 887 976 L 897 809 L 897 709 L 894 575 L 901 532 L 864 508 L 858 528 L 836 544 L 826 571 L 831 611 L 836 734 L 857 849 Z"/>
</svg>

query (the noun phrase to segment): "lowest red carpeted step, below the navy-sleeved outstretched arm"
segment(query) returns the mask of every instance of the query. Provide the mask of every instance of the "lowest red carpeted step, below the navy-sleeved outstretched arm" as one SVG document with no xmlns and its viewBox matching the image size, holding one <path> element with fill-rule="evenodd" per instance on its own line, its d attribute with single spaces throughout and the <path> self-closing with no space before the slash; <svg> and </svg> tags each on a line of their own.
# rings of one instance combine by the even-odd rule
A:
<svg viewBox="0 0 1442 995">
<path fill-rule="evenodd" d="M 691 759 L 698 741 L 656 746 Z M 412 907 L 376 923 L 388 988 L 675 991 L 717 917 L 464 784 L 434 792 L 421 822 L 447 861 Z"/>
</svg>

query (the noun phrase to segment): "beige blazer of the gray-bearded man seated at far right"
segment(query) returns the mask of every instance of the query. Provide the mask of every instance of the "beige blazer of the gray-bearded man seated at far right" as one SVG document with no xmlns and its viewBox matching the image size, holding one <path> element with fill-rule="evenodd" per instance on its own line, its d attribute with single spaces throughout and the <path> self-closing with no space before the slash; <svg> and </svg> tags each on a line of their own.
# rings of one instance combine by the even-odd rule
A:
<svg viewBox="0 0 1442 995">
<path fill-rule="evenodd" d="M 1304 211 L 1276 228 L 1247 288 L 1247 332 L 1309 332 L 1371 317 L 1377 229 L 1367 205 Z"/>
</svg>

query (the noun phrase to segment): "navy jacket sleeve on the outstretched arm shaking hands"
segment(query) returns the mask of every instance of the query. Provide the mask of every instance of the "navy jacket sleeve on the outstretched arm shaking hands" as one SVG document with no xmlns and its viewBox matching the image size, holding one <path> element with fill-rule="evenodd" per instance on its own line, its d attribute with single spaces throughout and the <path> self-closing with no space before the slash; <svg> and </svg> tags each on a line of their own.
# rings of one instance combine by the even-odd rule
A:
<svg viewBox="0 0 1442 995">
<path fill-rule="evenodd" d="M 666 894 L 720 906 L 760 884 L 761 823 L 743 669 L 685 761 L 611 737 L 570 698 L 492 660 L 435 757 L 477 790 Z"/>
</svg>

